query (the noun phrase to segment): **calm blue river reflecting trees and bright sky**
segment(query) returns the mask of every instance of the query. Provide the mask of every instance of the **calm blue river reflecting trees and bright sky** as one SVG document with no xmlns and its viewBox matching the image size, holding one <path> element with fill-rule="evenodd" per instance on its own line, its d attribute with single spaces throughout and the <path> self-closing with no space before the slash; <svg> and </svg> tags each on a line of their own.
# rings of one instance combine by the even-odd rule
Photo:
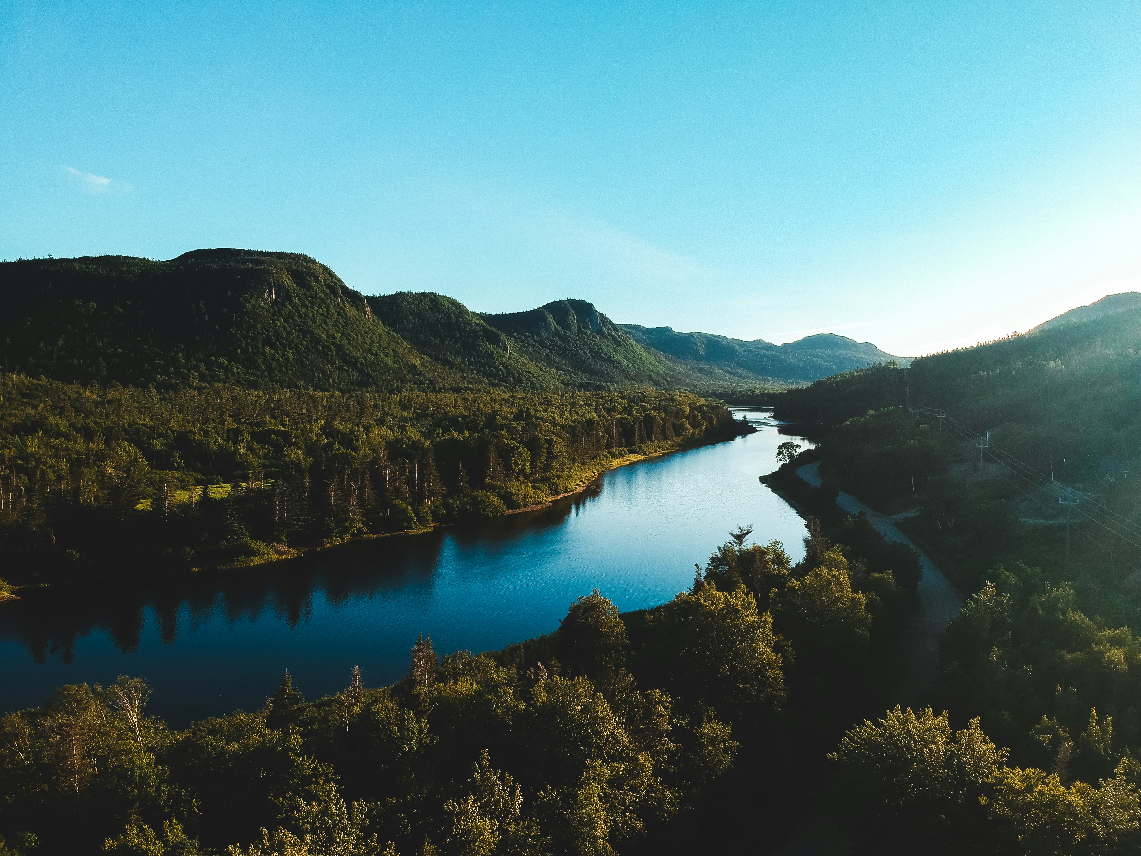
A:
<svg viewBox="0 0 1141 856">
<path fill-rule="evenodd" d="M 803 520 L 758 481 L 788 429 L 747 417 L 756 434 L 622 467 L 543 511 L 0 604 L 0 711 L 127 673 L 154 687 L 152 712 L 185 725 L 259 708 L 285 669 L 309 697 L 347 686 L 357 663 L 367 685 L 389 684 L 421 632 L 440 654 L 550 632 L 593 588 L 622 611 L 661 604 L 737 524 L 798 560 Z"/>
</svg>

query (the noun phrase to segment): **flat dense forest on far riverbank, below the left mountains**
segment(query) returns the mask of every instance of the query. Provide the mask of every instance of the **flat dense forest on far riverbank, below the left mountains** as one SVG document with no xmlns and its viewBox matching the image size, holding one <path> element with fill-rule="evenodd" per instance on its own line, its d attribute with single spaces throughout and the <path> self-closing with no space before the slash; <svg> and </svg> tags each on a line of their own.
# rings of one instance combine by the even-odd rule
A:
<svg viewBox="0 0 1141 856">
<path fill-rule="evenodd" d="M 0 374 L 9 583 L 233 566 L 488 517 L 751 430 L 682 393 L 159 391 Z"/>
</svg>

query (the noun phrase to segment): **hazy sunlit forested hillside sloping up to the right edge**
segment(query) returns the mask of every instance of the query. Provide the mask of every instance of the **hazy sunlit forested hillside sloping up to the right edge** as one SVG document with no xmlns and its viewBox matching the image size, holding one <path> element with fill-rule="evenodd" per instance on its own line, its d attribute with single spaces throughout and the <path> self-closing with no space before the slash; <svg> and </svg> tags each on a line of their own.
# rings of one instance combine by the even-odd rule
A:
<svg viewBox="0 0 1141 856">
<path fill-rule="evenodd" d="M 1141 308 L 921 357 L 906 371 L 824 378 L 783 393 L 777 414 L 834 426 L 908 403 L 1011 435 L 1010 451 L 1042 471 L 1057 460 L 1074 478 L 1098 477 L 1102 457 L 1141 452 Z"/>
</svg>

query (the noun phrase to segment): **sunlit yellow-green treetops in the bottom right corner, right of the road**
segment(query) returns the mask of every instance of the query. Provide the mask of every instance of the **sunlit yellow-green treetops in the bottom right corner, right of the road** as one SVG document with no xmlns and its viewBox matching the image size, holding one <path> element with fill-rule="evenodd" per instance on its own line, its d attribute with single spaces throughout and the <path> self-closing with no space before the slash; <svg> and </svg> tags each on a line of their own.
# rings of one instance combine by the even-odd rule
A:
<svg viewBox="0 0 1141 856">
<path fill-rule="evenodd" d="M 1058 774 L 1009 767 L 979 720 L 952 732 L 946 711 L 898 706 L 844 736 L 830 758 L 850 802 L 855 840 L 880 851 L 1011 851 L 1030 856 L 1133 853 L 1141 805 L 1122 765 L 1094 788 Z"/>
</svg>

